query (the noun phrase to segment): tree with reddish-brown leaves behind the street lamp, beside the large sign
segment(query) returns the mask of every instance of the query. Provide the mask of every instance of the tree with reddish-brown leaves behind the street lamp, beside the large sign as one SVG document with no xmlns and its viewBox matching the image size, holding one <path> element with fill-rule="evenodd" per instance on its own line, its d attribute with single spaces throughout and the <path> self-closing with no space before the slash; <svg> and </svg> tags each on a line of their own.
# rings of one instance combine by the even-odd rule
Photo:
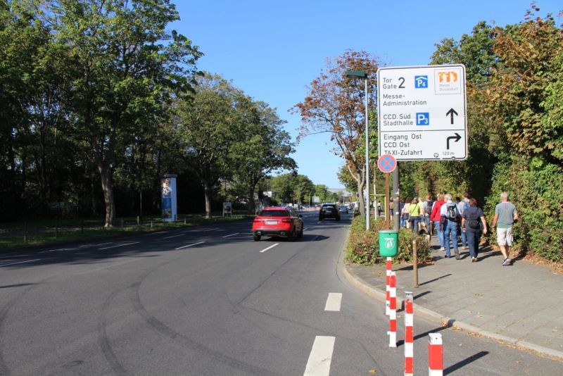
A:
<svg viewBox="0 0 563 376">
<path fill-rule="evenodd" d="M 377 98 L 377 59 L 365 51 L 347 50 L 336 59 L 327 59 L 326 70 L 310 84 L 309 93 L 293 111 L 301 115 L 300 137 L 328 132 L 336 143 L 334 153 L 346 161 L 355 180 L 360 214 L 365 215 L 365 88 L 363 80 L 346 77 L 348 70 L 364 70 L 368 80 L 369 103 Z"/>
</svg>

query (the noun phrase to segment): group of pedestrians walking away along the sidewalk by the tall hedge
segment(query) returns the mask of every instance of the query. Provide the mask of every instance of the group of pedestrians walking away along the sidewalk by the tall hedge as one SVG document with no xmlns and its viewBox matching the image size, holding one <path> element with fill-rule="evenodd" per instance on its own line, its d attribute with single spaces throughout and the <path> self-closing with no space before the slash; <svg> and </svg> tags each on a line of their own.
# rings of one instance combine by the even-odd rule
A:
<svg viewBox="0 0 563 376">
<path fill-rule="evenodd" d="M 412 205 L 412 201 L 410 204 Z M 466 193 L 463 195 L 463 199 L 456 198 L 453 201 L 451 194 L 440 193 L 434 202 L 431 201 L 431 196 L 426 196 L 426 200 L 420 207 L 422 211 L 419 213 L 423 213 L 419 214 L 420 218 L 424 218 L 429 234 L 433 233 L 432 227 L 436 229 L 441 251 L 445 251 L 446 258 L 452 257 L 452 248 L 455 258 L 457 260 L 461 258 L 457 242 L 457 238 L 460 237 L 461 246 L 469 249 L 471 261 L 477 261 L 481 236 L 487 234 L 488 228 L 485 215 L 477 206 L 476 199 L 469 198 L 469 194 Z M 512 225 L 518 218 L 516 206 L 508 201 L 508 194 L 502 192 L 500 203 L 495 207 L 492 226 L 493 231 L 496 230 L 497 242 L 503 256 L 502 265 L 511 263 Z M 418 231 L 418 223 L 416 229 Z M 413 229 L 413 231 L 415 230 Z"/>
</svg>

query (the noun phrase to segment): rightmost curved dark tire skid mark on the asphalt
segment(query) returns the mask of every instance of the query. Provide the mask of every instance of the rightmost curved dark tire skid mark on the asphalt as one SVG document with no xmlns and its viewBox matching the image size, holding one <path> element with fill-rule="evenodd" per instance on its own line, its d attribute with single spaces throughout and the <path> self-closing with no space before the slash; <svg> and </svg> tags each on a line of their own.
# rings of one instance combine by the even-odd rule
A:
<svg viewBox="0 0 563 376">
<path fill-rule="evenodd" d="M 225 363 L 234 368 L 243 370 L 245 372 L 251 372 L 255 375 L 275 375 L 274 373 L 264 368 L 259 368 L 259 367 L 255 367 L 254 365 L 243 363 L 235 358 L 231 358 L 220 352 L 212 350 L 207 346 L 204 346 L 203 344 L 200 344 L 194 341 L 193 339 L 185 336 L 184 334 L 176 332 L 171 327 L 166 325 L 164 322 L 158 320 L 158 318 L 154 317 L 153 315 L 151 315 L 151 313 L 148 313 L 148 311 L 146 311 L 146 308 L 143 306 L 143 303 L 141 302 L 141 297 L 139 296 L 139 288 L 141 287 L 141 284 L 146 279 L 146 277 L 148 277 L 148 275 L 151 275 L 151 273 L 154 272 L 156 269 L 168 263 L 161 264 L 157 268 L 145 272 L 143 275 L 141 275 L 139 281 L 131 285 L 131 300 L 135 308 L 135 311 L 137 311 L 137 313 L 141 315 L 141 318 L 143 318 L 148 323 L 148 325 L 153 327 L 153 329 L 156 330 L 157 332 L 164 334 L 166 337 L 169 337 L 170 339 L 178 341 L 180 344 L 182 344 L 182 346 L 188 347 L 190 349 L 194 349 L 196 351 L 199 351 L 200 353 L 204 353 L 205 355 L 212 358 L 214 361 Z"/>
</svg>

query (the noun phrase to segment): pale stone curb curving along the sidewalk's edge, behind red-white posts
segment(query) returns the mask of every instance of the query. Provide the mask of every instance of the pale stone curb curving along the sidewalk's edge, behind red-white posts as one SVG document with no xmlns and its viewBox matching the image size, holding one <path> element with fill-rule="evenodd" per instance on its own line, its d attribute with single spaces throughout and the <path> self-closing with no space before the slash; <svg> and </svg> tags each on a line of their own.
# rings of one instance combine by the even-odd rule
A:
<svg viewBox="0 0 563 376">
<path fill-rule="evenodd" d="M 380 289 L 377 289 L 375 287 L 370 286 L 364 280 L 362 280 L 360 277 L 358 277 L 357 275 L 354 275 L 353 272 L 350 272 L 348 265 L 346 265 L 346 264 L 343 265 L 342 269 L 343 269 L 344 276 L 346 277 L 348 282 L 353 284 L 354 287 L 359 289 L 361 292 L 364 292 L 368 296 L 372 296 L 372 298 L 374 298 L 374 299 L 385 302 L 385 300 L 386 300 L 386 293 L 385 292 L 381 291 Z M 397 296 L 397 306 L 401 307 L 402 309 L 404 307 L 403 299 L 400 299 L 398 296 Z M 482 330 L 479 327 L 476 327 L 476 326 L 471 325 L 471 324 L 467 324 L 466 322 L 456 320 L 455 318 L 448 318 L 447 316 L 441 315 L 440 313 L 432 311 L 428 308 L 424 308 L 422 306 L 419 306 L 416 303 L 413 303 L 413 308 L 414 308 L 414 310 L 417 314 L 420 314 L 424 318 L 426 318 L 427 320 L 430 320 L 432 322 L 436 322 L 439 325 L 443 325 L 445 327 L 453 327 L 457 330 L 462 330 L 464 332 L 479 334 L 483 337 L 495 339 L 496 341 L 501 341 L 502 343 L 510 344 L 512 346 L 517 346 L 517 347 L 520 347 L 522 349 L 536 351 L 537 353 L 540 353 L 543 356 L 549 356 L 551 358 L 556 358 L 558 361 L 563 361 L 563 352 L 562 351 L 549 349 L 547 347 L 536 345 L 536 344 L 531 344 L 530 342 L 526 342 L 526 341 L 519 341 L 518 339 L 514 339 L 512 337 L 507 337 L 507 336 L 502 335 L 502 334 L 488 332 L 487 330 Z"/>
</svg>

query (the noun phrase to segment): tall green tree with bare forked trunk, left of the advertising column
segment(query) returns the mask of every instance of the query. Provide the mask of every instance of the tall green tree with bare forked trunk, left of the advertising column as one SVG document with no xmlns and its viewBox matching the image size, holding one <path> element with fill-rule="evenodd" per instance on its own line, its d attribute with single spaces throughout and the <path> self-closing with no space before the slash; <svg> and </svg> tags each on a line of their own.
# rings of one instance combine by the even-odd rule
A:
<svg viewBox="0 0 563 376">
<path fill-rule="evenodd" d="M 125 153 L 137 130 L 158 126 L 166 116 L 163 105 L 175 92 L 191 89 L 201 54 L 186 37 L 165 32 L 179 19 L 168 0 L 52 1 L 49 6 L 53 37 L 75 75 L 74 132 L 101 177 L 105 226 L 111 227 L 116 156 Z"/>
</svg>

